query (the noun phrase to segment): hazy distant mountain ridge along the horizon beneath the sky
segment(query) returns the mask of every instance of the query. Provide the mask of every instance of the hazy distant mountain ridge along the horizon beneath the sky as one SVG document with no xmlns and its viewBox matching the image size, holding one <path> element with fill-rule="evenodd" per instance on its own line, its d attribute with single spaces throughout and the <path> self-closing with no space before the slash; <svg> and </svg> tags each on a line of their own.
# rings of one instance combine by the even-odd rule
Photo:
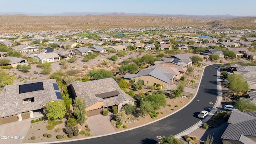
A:
<svg viewBox="0 0 256 144">
<path fill-rule="evenodd" d="M 174 16 L 181 18 L 199 19 L 232 19 L 246 16 L 226 15 L 186 15 L 186 14 L 151 14 L 151 13 L 125 13 L 125 12 L 63 12 L 56 14 L 24 13 L 24 12 L 0 12 L 0 15 L 27 15 L 27 16 Z M 248 17 L 248 16 L 247 16 Z M 255 16 L 250 16 L 255 17 Z"/>
</svg>

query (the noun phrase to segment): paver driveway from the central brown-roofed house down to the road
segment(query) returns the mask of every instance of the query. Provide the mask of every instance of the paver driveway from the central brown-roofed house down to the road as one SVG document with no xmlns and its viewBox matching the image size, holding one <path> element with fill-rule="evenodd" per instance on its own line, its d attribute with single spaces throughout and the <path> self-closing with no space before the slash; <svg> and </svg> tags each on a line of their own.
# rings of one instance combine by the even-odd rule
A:
<svg viewBox="0 0 256 144">
<path fill-rule="evenodd" d="M 92 136 L 100 136 L 116 132 L 110 123 L 110 119 L 110 116 L 103 116 L 101 114 L 90 116 L 86 122 L 92 131 Z"/>
</svg>

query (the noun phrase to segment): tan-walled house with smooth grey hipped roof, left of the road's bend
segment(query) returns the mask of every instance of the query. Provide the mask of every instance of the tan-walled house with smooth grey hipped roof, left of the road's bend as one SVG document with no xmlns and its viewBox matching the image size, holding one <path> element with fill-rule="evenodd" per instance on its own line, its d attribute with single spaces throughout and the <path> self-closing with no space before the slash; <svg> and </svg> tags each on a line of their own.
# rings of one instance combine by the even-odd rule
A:
<svg viewBox="0 0 256 144">
<path fill-rule="evenodd" d="M 139 79 L 148 86 L 160 84 L 162 88 L 168 88 L 168 85 L 173 84 L 175 80 L 175 74 L 171 74 L 170 72 L 155 67 L 141 70 L 137 74 L 126 74 L 124 76 L 124 80 L 126 82 L 129 82 L 129 80 L 134 80 L 136 83 Z"/>
</svg>

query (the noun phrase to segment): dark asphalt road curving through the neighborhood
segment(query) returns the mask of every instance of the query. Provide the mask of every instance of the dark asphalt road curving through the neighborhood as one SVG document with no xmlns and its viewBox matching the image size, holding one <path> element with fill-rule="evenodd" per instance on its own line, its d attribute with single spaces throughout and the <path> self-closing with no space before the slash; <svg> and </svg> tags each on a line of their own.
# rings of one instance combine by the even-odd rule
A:
<svg viewBox="0 0 256 144">
<path fill-rule="evenodd" d="M 87 140 L 65 142 L 65 144 L 156 144 L 160 141 L 156 136 L 176 135 L 183 132 L 200 121 L 197 118 L 200 111 L 213 108 L 216 103 L 216 66 L 220 66 L 220 64 L 210 65 L 205 68 L 196 97 L 179 112 L 158 122 L 126 132 Z"/>
</svg>

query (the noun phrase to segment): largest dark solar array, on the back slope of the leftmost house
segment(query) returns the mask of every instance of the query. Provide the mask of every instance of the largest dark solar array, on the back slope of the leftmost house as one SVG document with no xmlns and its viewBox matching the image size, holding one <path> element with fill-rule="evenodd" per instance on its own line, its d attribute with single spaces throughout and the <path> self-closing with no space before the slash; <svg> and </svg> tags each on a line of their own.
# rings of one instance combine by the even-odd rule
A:
<svg viewBox="0 0 256 144">
<path fill-rule="evenodd" d="M 19 86 L 19 94 L 26 93 L 26 92 L 34 92 L 38 90 L 43 90 L 43 82 L 35 82 L 31 84 L 22 84 Z"/>
</svg>

